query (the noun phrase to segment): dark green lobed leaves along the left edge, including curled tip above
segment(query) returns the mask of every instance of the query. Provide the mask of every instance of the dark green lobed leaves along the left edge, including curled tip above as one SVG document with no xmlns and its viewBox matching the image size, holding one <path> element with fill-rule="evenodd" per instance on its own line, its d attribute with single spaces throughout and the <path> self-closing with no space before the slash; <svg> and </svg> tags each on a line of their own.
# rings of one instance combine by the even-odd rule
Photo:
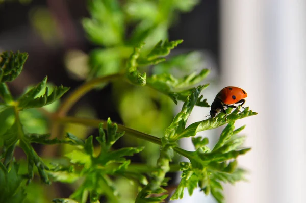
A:
<svg viewBox="0 0 306 203">
<path fill-rule="evenodd" d="M 20 73 L 27 54 L 11 53 L 9 56 L 7 53 L 2 54 L 2 81 L 12 81 Z M 7 80 L 9 79 L 9 80 Z M 48 167 L 43 163 L 41 158 L 36 154 L 34 148 L 31 146 L 31 142 L 38 142 L 43 144 L 57 144 L 62 143 L 58 139 L 48 140 L 47 136 L 36 134 L 28 135 L 24 132 L 23 125 L 19 117 L 19 111 L 21 109 L 43 107 L 51 104 L 58 100 L 69 88 L 60 86 L 55 87 L 52 93 L 48 93 L 46 87 L 45 93 L 37 97 L 37 95 L 43 90 L 46 85 L 47 78 L 45 78 L 37 86 L 30 89 L 27 93 L 22 95 L 18 100 L 14 101 L 11 93 L 5 83 L 0 83 L 0 95 L 3 98 L 4 104 L 0 104 L 3 108 L 0 109 L 0 115 L 11 117 L 13 121 L 4 124 L 5 131 L 2 131 L 0 136 L 0 147 L 2 147 L 2 156 L 4 158 L 4 166 L 9 168 L 10 162 L 13 159 L 14 150 L 17 142 L 19 146 L 27 155 L 28 159 L 28 174 L 25 175 L 28 179 L 28 183 L 33 179 L 34 176 L 34 165 L 38 169 L 38 173 L 41 180 L 44 183 L 49 184 L 49 179 L 46 170 Z"/>
</svg>

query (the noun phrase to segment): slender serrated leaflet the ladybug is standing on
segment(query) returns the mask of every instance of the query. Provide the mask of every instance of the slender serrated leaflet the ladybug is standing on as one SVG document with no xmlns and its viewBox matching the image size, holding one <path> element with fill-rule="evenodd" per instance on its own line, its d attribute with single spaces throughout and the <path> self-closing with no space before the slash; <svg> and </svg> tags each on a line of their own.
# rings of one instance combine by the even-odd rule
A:
<svg viewBox="0 0 306 203">
<path fill-rule="evenodd" d="M 248 116 L 257 115 L 256 112 L 249 110 L 248 107 L 245 108 L 242 113 L 240 113 L 238 109 L 235 109 L 232 113 L 231 111 L 232 111 L 232 108 L 226 109 L 226 113 L 229 114 L 227 116 L 228 122 L 246 118 Z M 206 120 L 192 123 L 178 136 L 178 139 L 183 138 L 183 137 L 192 137 L 192 136 L 195 136 L 196 133 L 198 132 L 209 130 L 209 129 L 215 129 L 224 124 L 226 124 L 224 114 L 219 113 L 216 117 L 216 121 L 213 118 L 209 118 Z"/>
</svg>

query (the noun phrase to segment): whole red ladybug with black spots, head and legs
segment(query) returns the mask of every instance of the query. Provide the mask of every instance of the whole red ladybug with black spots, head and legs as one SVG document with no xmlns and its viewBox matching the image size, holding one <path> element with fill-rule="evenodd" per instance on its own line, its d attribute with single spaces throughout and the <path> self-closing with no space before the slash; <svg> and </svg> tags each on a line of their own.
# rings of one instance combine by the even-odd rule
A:
<svg viewBox="0 0 306 203">
<path fill-rule="evenodd" d="M 239 88 L 234 86 L 228 86 L 221 89 L 221 91 L 216 95 L 214 102 L 211 105 L 211 110 L 209 112 L 210 118 L 215 118 L 217 113 L 222 111 L 225 114 L 225 122 L 227 122 L 227 114 L 224 110 L 224 107 L 231 107 L 237 108 L 235 105 L 232 104 L 240 104 L 242 105 L 245 103 L 244 98 L 247 97 L 247 93 Z M 242 107 L 245 108 L 245 107 Z"/>
</svg>

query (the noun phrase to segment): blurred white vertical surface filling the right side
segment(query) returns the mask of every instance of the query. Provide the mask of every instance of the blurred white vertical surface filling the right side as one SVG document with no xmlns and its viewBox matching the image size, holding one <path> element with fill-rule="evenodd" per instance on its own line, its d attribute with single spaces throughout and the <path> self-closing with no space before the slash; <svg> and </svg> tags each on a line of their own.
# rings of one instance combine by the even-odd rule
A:
<svg viewBox="0 0 306 203">
<path fill-rule="evenodd" d="M 226 202 L 306 202 L 306 1 L 221 1 L 222 87 L 248 93 L 258 112 L 239 159 L 249 183 L 226 187 Z"/>
</svg>

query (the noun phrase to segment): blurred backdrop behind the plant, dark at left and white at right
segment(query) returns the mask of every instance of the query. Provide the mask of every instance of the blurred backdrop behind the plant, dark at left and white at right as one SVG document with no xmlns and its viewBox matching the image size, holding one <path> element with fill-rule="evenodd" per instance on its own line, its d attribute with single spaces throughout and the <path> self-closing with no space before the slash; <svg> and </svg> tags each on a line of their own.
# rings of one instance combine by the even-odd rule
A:
<svg viewBox="0 0 306 203">
<path fill-rule="evenodd" d="M 36 84 L 45 75 L 53 84 L 74 89 L 86 79 L 111 74 L 130 54 L 130 49 L 122 46 L 120 40 L 129 39 L 126 43 L 133 45 L 133 36 L 140 31 L 148 30 L 145 39 L 152 44 L 165 38 L 184 39 L 171 53 L 174 59 L 155 67 L 153 73 L 175 67 L 172 73 L 183 75 L 211 68 L 212 73 L 207 80 L 211 86 L 202 92 L 209 103 L 223 87 L 238 86 L 248 93 L 246 106 L 259 113 L 236 122 L 236 126 L 247 125 L 243 131 L 247 135 L 245 145 L 252 150 L 239 159 L 240 166 L 249 170 L 248 182 L 226 185 L 226 202 L 305 202 L 303 102 L 306 100 L 306 2 L 182 0 L 185 3 L 172 10 L 155 7 L 154 3 L 145 4 L 154 1 L 119 2 L 124 5 L 122 23 L 127 26 L 124 31 L 116 31 L 120 34 L 116 38 L 117 35 L 105 34 L 104 30 L 98 30 L 89 21 L 82 20 L 90 17 L 85 0 L 0 0 L 0 50 L 29 53 L 20 77 L 10 84 L 12 92 L 19 95 L 26 86 Z M 142 2 L 139 3 L 141 7 L 133 2 Z M 166 13 L 169 18 L 157 19 L 154 12 Z M 114 16 L 94 17 L 115 19 Z M 82 23 L 87 28 L 87 34 Z M 114 29 L 120 30 L 120 27 Z M 90 35 L 90 32 L 103 33 L 109 38 L 104 41 L 98 35 Z M 152 44 L 147 44 L 147 49 Z M 114 46 L 116 48 L 112 48 Z M 185 53 L 184 57 L 182 53 Z M 106 68 L 101 69 L 101 66 Z M 91 91 L 69 115 L 99 119 L 111 117 L 115 122 L 161 136 L 182 104 L 174 106 L 170 99 L 148 89 L 123 86 L 117 82 Z M 148 99 L 143 99 L 143 95 L 147 95 Z M 139 117 L 143 112 L 146 114 Z M 25 123 L 27 128 L 47 132 L 47 123 L 43 118 L 35 112 L 25 113 L 25 118 L 29 114 L 36 116 L 36 119 Z M 188 122 L 202 120 L 208 114 L 209 108 L 196 108 Z M 45 128 L 35 128 L 37 123 Z M 80 137 L 97 133 L 75 125 L 65 126 L 64 131 Z M 199 135 L 210 137 L 211 143 L 214 143 L 220 131 L 216 129 Z M 133 161 L 154 165 L 159 150 L 154 144 L 126 139 L 121 140 L 117 147 L 135 143 L 146 145 L 148 150 Z M 182 147 L 193 150 L 190 140 L 182 142 Z M 61 153 L 69 150 L 63 146 Z M 52 156 L 52 152 L 43 149 L 40 154 Z M 172 174 L 173 184 L 176 176 L 179 174 Z M 68 197 L 73 191 L 73 187 L 59 187 L 63 191 L 54 193 L 61 197 Z M 39 190 L 35 188 L 35 191 Z M 41 199 L 55 197 L 43 191 L 41 193 Z M 35 202 L 31 200 L 31 194 L 29 198 L 28 202 Z M 191 200 L 214 202 L 211 197 L 203 197 L 199 192 L 192 197 L 185 193 L 182 200 L 175 202 Z"/>
</svg>

